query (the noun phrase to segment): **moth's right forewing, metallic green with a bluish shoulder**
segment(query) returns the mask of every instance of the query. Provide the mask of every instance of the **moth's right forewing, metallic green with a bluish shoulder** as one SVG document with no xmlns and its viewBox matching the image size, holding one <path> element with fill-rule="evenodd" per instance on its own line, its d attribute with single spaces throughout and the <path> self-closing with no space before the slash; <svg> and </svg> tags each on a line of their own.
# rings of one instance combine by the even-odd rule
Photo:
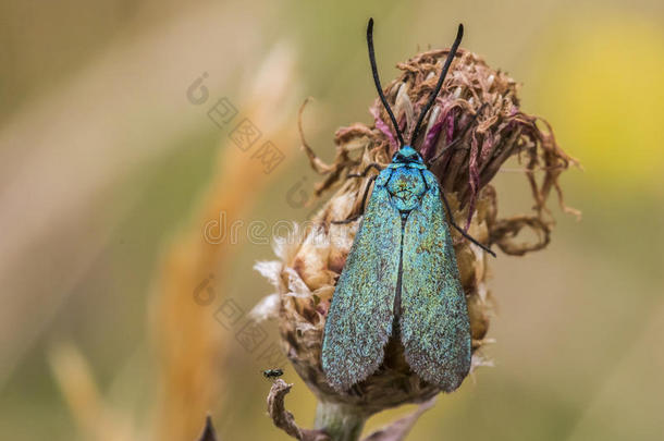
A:
<svg viewBox="0 0 664 441">
<path fill-rule="evenodd" d="M 470 370 L 470 324 L 439 184 L 422 175 L 428 189 L 404 229 L 402 343 L 421 379 L 452 392 Z"/>
</svg>

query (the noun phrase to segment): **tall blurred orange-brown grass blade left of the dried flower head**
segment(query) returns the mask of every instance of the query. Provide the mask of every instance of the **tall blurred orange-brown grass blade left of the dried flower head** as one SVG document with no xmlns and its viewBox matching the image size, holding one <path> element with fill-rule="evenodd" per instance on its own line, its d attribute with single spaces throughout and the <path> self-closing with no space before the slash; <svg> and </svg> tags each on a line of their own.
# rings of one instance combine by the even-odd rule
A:
<svg viewBox="0 0 664 441">
<path fill-rule="evenodd" d="M 296 94 L 295 76 L 292 51 L 285 45 L 275 47 L 251 78 L 238 108 L 286 158 L 295 146 L 295 119 L 294 108 L 284 102 L 293 101 L 291 95 Z M 200 213 L 164 254 L 150 308 L 160 360 L 156 439 L 194 439 L 223 387 L 221 363 L 229 334 L 213 319 L 216 306 L 201 307 L 192 293 L 210 274 L 216 274 L 216 285 L 223 286 L 232 249 L 226 243 L 206 241 L 202 226 L 222 211 L 229 224 L 241 219 L 272 176 L 265 173 L 261 161 L 251 158 L 251 151 L 222 145 L 218 172 Z"/>
</svg>

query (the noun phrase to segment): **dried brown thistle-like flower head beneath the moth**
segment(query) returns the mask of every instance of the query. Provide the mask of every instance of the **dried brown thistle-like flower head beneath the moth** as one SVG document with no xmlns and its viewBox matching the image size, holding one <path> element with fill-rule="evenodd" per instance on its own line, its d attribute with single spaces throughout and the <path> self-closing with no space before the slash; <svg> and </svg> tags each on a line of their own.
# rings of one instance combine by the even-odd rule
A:
<svg viewBox="0 0 664 441">
<path fill-rule="evenodd" d="M 405 134 L 413 131 L 414 115 L 425 106 L 435 86 L 447 50 L 423 52 L 397 66 L 402 75 L 386 88 L 397 122 Z M 316 193 L 336 187 L 322 209 L 288 237 L 275 238 L 279 261 L 259 262 L 278 293 L 267 297 L 257 316 L 279 320 L 282 344 L 295 370 L 323 402 L 353 406 L 370 415 L 404 403 L 421 403 L 440 390 L 418 378 L 403 356 L 403 347 L 389 343 L 380 368 L 366 380 L 340 393 L 333 390 L 321 367 L 321 344 L 327 313 L 358 223 L 336 224 L 362 211 L 362 194 L 370 176 L 349 177 L 369 164 L 386 166 L 398 148 L 388 114 L 377 100 L 370 108 L 373 126 L 353 124 L 337 131 L 336 157 L 325 164 L 304 142 L 311 167 L 325 174 Z M 496 244 L 505 254 L 522 255 L 549 243 L 552 221 L 545 201 L 555 188 L 563 205 L 557 177 L 576 161 L 557 146 L 551 128 L 538 118 L 521 112 L 517 84 L 489 68 L 478 56 L 459 50 L 452 63 L 435 106 L 425 120 L 413 146 L 429 162 L 451 204 L 459 225 L 482 243 Z M 534 212 L 511 219 L 497 218 L 497 198 L 491 180 L 501 166 L 516 156 L 522 163 L 534 199 Z M 541 171 L 540 182 L 536 172 Z M 571 211 L 564 207 L 565 210 Z M 524 228 L 539 241 L 514 240 Z M 491 317 L 487 285 L 487 254 L 452 230 L 462 285 L 466 293 L 472 334 L 472 368 L 488 364 L 481 354 Z"/>
</svg>

